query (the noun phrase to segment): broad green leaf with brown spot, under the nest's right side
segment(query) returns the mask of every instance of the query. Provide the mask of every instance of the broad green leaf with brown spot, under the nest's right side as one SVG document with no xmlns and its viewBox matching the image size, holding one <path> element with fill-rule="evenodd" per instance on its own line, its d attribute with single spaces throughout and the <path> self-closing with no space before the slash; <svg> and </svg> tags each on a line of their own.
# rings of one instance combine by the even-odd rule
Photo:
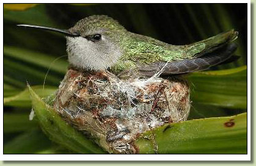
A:
<svg viewBox="0 0 256 166">
<path fill-rule="evenodd" d="M 143 133 L 139 153 L 246 154 L 247 113 L 172 123 Z"/>
</svg>

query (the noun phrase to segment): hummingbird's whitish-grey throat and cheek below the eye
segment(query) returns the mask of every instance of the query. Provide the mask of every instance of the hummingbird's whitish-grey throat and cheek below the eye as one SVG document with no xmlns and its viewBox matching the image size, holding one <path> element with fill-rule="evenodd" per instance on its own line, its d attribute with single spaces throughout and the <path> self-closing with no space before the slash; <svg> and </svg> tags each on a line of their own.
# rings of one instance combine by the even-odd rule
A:
<svg viewBox="0 0 256 166">
<path fill-rule="evenodd" d="M 82 37 L 67 36 L 67 53 L 71 65 L 94 71 L 113 66 L 122 55 L 120 49 L 104 36 L 98 42 L 88 41 Z"/>
</svg>

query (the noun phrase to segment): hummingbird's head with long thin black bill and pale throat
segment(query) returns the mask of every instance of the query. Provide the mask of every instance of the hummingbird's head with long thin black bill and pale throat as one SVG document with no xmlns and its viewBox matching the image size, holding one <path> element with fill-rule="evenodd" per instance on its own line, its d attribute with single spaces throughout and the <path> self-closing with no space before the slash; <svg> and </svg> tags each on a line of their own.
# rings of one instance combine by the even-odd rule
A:
<svg viewBox="0 0 256 166">
<path fill-rule="evenodd" d="M 76 22 L 68 30 L 42 26 L 19 25 L 53 30 L 67 38 L 68 61 L 78 69 L 99 71 L 114 65 L 122 56 L 120 43 L 126 29 L 104 15 L 93 15 Z"/>
</svg>

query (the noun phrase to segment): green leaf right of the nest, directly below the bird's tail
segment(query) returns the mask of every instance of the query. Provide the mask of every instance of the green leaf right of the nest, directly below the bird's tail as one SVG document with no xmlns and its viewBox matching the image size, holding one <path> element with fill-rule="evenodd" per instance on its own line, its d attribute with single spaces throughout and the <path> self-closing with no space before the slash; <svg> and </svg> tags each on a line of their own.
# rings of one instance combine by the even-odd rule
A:
<svg viewBox="0 0 256 166">
<path fill-rule="evenodd" d="M 247 66 L 188 76 L 193 102 L 225 108 L 247 108 Z"/>
</svg>

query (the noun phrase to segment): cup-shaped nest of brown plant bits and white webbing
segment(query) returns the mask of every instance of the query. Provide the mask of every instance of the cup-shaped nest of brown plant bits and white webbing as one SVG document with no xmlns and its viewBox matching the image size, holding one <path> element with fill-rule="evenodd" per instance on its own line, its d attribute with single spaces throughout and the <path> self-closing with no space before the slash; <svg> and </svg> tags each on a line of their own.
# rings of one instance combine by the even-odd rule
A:
<svg viewBox="0 0 256 166">
<path fill-rule="evenodd" d="M 69 69 L 54 108 L 109 153 L 139 153 L 134 140 L 141 133 L 187 119 L 189 86 L 177 78 L 128 74 L 121 79 L 110 72 Z"/>
</svg>

